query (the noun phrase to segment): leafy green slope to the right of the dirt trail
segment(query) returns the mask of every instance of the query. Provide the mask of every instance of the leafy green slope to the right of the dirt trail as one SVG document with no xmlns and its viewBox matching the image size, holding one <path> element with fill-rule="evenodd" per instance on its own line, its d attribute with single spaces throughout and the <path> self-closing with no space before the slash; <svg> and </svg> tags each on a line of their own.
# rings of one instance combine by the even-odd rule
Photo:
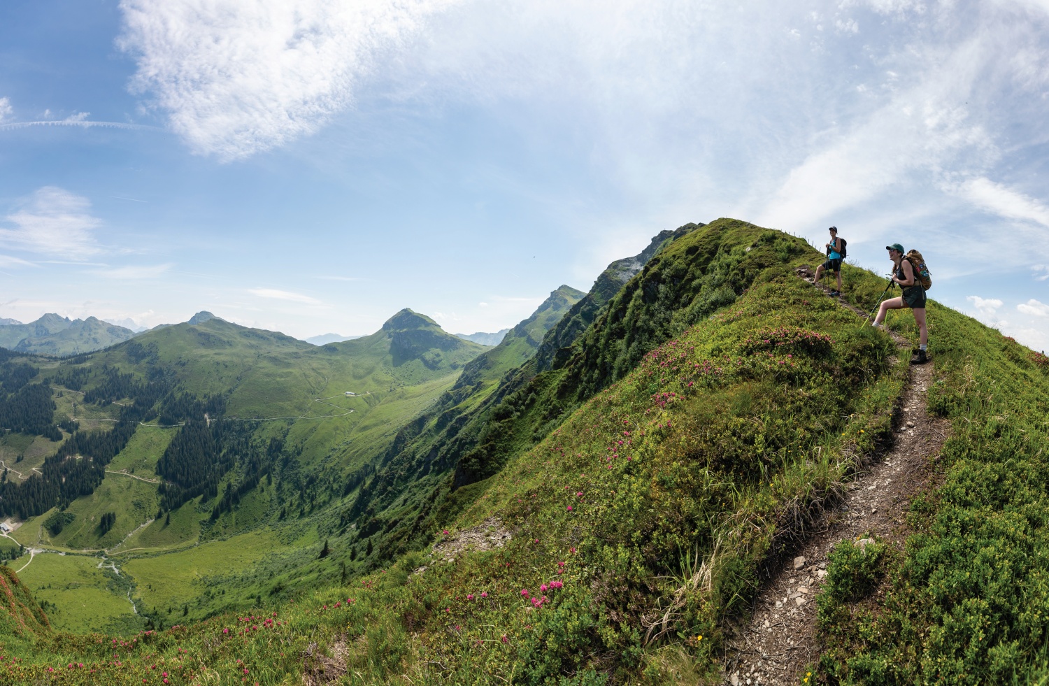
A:
<svg viewBox="0 0 1049 686">
<path fill-rule="evenodd" d="M 932 303 L 936 382 L 950 417 L 942 486 L 916 502 L 883 600 L 821 608 L 822 679 L 840 684 L 1029 684 L 1049 677 L 1049 361 Z M 842 552 L 847 555 L 847 552 Z"/>
</svg>

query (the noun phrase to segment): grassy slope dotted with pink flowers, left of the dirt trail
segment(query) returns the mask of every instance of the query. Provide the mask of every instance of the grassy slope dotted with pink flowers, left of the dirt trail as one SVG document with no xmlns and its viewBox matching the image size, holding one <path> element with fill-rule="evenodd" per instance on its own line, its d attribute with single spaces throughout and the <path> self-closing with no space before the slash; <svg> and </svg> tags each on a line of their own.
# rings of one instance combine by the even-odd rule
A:
<svg viewBox="0 0 1049 686">
<path fill-rule="evenodd" d="M 19 679 L 142 683 L 157 664 L 170 683 L 298 683 L 311 642 L 341 642 L 359 683 L 713 678 L 720 626 L 757 566 L 884 437 L 903 386 L 889 337 L 856 328 L 789 264 L 758 270 L 731 307 L 683 326 L 494 477 L 458 489 L 463 513 L 447 534 L 429 531 L 451 541 L 502 526 L 505 546 L 452 562 L 409 553 L 345 586 L 319 576 L 275 608 L 281 624 L 259 621 L 274 612 L 260 607 L 244 622 L 140 635 L 119 643 L 119 666 L 109 639 L 45 639 L 20 656 Z M 858 291 L 873 301 L 880 288 L 869 278 Z"/>
</svg>

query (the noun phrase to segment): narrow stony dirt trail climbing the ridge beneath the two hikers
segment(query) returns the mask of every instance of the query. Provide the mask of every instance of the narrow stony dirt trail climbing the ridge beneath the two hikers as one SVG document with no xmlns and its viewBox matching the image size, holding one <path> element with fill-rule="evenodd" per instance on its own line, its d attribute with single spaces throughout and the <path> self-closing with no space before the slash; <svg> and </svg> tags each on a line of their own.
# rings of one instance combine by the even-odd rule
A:
<svg viewBox="0 0 1049 686">
<path fill-rule="evenodd" d="M 798 275 L 811 282 L 811 272 Z M 842 306 L 859 314 L 842 300 Z M 900 355 L 911 356 L 911 343 L 894 335 Z M 926 392 L 933 365 L 914 365 L 894 422 L 892 449 L 856 475 L 838 507 L 829 510 L 811 535 L 785 556 L 752 606 L 750 620 L 727 641 L 727 684 L 795 686 L 806 665 L 819 658 L 816 639 L 816 596 L 827 576 L 827 559 L 845 539 L 877 537 L 902 549 L 907 535 L 911 499 L 929 483 L 933 465 L 950 431 L 947 420 L 930 415 Z"/>
</svg>

